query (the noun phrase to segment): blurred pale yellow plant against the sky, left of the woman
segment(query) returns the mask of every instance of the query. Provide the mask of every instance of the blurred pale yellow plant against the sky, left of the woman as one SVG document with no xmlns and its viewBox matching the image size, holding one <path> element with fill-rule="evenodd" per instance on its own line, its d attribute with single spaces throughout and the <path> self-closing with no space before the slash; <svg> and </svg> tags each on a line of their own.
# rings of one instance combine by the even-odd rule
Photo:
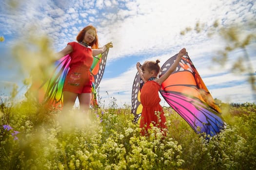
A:
<svg viewBox="0 0 256 170">
<path fill-rule="evenodd" d="M 17 40 L 12 53 L 21 65 L 24 85 L 28 87 L 33 84 L 28 95 L 37 96 L 39 86 L 54 70 L 56 58 L 50 39 L 46 35 L 38 35 L 37 30 L 32 28 Z"/>
</svg>

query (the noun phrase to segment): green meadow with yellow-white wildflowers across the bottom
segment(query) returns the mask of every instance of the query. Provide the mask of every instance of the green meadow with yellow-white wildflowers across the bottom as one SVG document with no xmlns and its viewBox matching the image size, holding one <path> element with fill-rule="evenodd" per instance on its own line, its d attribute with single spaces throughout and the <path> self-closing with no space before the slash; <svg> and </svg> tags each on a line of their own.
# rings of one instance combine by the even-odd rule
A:
<svg viewBox="0 0 256 170">
<path fill-rule="evenodd" d="M 173 109 L 168 132 L 140 136 L 129 107 L 50 112 L 1 100 L 0 166 L 6 170 L 254 170 L 256 105 L 221 103 L 227 128 L 206 141 Z M 7 129 L 6 127 L 10 127 Z M 11 129 L 12 128 L 12 129 Z M 19 133 L 15 133 L 19 132 Z M 17 138 L 16 138 L 17 137 Z"/>
</svg>

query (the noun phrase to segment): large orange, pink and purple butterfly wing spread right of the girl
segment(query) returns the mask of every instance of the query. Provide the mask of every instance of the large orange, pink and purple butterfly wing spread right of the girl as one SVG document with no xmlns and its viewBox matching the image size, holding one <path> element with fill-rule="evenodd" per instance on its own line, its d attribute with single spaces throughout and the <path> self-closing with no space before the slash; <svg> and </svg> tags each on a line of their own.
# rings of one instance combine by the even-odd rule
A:
<svg viewBox="0 0 256 170">
<path fill-rule="evenodd" d="M 177 54 L 163 64 L 159 77 L 176 57 Z M 182 57 L 176 71 L 162 83 L 160 94 L 195 132 L 214 136 L 223 129 L 220 109 L 188 55 Z"/>
</svg>

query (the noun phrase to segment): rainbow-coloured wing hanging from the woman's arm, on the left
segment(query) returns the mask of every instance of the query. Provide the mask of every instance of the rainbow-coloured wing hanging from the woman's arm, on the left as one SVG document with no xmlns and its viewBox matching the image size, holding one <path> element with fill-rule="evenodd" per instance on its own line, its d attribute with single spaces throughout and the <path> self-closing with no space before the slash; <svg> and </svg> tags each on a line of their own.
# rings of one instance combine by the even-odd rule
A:
<svg viewBox="0 0 256 170">
<path fill-rule="evenodd" d="M 44 89 L 44 103 L 50 104 L 55 108 L 61 108 L 63 104 L 63 85 L 69 70 L 70 56 L 66 55 L 55 63 L 55 70 L 48 82 L 42 84 Z M 39 89 L 40 89 L 39 88 Z M 40 100 L 39 100 L 40 101 Z"/>
</svg>

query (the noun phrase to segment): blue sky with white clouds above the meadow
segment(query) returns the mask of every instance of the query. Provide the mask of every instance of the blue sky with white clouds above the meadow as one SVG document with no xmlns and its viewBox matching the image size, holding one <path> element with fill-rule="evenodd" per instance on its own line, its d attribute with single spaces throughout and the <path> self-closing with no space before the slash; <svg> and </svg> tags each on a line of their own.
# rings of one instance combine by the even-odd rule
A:
<svg viewBox="0 0 256 170">
<path fill-rule="evenodd" d="M 10 2 L 16 2 L 15 8 Z M 137 62 L 159 59 L 161 65 L 183 47 L 214 98 L 222 102 L 255 102 L 246 81 L 248 76 L 230 71 L 232 61 L 243 51 L 230 52 L 229 62 L 220 67 L 212 57 L 219 55 L 226 43 L 218 34 L 207 36 L 216 20 L 220 27 L 228 28 L 247 25 L 255 18 L 253 0 L 1 0 L 0 36 L 5 40 L 0 42 L 0 95 L 9 94 L 14 84 L 21 89 L 20 96 L 24 94 L 22 80 L 28 75 L 21 71 L 22 63 L 12 57 L 12 51 L 14 45 L 28 37 L 32 27 L 38 35 L 47 35 L 51 48 L 58 52 L 91 24 L 98 29 L 101 46 L 109 41 L 114 44 L 99 85 L 105 106 L 110 97 L 116 98 L 119 106 L 131 105 Z M 204 24 L 200 33 L 192 30 L 180 34 L 185 28 L 195 28 L 198 22 Z M 246 31 L 255 34 L 256 28 Z M 256 43 L 246 50 L 255 63 Z"/>
</svg>

